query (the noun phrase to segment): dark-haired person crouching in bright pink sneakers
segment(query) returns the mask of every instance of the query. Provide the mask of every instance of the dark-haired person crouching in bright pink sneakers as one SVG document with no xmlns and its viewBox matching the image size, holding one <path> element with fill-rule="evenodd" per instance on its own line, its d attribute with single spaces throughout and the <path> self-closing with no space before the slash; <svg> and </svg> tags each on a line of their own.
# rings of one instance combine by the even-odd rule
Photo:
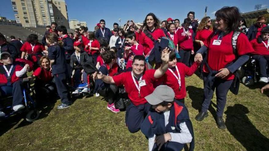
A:
<svg viewBox="0 0 269 151">
<path fill-rule="evenodd" d="M 102 54 L 105 64 L 101 65 L 99 72 L 104 75 L 113 76 L 117 73 L 121 73 L 122 69 L 118 66 L 116 53 L 113 51 L 105 51 Z M 94 92 L 99 93 L 103 97 L 107 97 L 108 104 L 107 109 L 114 113 L 120 112 L 119 109 L 115 108 L 115 100 L 118 92 L 118 87 L 115 84 L 108 84 L 103 82 L 101 79 L 95 80 Z"/>
</svg>

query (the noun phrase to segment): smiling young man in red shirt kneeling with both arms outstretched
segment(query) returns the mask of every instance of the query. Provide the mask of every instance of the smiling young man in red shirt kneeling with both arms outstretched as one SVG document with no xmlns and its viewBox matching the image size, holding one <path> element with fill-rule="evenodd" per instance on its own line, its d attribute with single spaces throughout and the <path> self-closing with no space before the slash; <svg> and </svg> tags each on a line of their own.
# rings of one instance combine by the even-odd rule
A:
<svg viewBox="0 0 269 151">
<path fill-rule="evenodd" d="M 94 73 L 95 79 L 101 79 L 105 83 L 124 85 L 131 104 L 126 109 L 125 123 L 131 133 L 140 130 L 140 126 L 145 115 L 150 109 L 150 104 L 145 96 L 154 91 L 153 82 L 163 76 L 168 69 L 169 49 L 162 51 L 162 65 L 157 70 L 146 70 L 146 60 L 144 56 L 135 56 L 132 64 L 132 71 L 124 72 L 116 76 L 106 76 L 101 73 Z"/>
</svg>

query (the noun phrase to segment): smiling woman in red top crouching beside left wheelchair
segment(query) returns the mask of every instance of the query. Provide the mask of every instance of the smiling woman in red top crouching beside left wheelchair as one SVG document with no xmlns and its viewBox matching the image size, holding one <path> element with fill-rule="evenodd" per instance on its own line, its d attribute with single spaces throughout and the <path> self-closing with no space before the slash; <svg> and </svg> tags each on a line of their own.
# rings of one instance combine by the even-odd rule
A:
<svg viewBox="0 0 269 151">
<path fill-rule="evenodd" d="M 40 58 L 40 67 L 33 72 L 33 77 L 35 77 L 35 94 L 39 99 L 51 99 L 55 96 L 56 86 L 53 82 L 48 56 L 42 56 Z"/>
</svg>

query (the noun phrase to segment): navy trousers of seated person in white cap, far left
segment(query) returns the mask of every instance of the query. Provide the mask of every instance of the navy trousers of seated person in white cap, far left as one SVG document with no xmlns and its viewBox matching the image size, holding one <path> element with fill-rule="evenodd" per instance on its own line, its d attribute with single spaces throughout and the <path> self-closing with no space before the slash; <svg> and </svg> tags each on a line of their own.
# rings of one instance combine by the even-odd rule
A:
<svg viewBox="0 0 269 151">
<path fill-rule="evenodd" d="M 14 82 L 12 85 L 3 85 L 0 87 L 1 97 L 13 95 L 12 106 L 23 104 L 22 83 L 20 81 Z M 0 111 L 3 107 L 0 105 Z"/>
</svg>

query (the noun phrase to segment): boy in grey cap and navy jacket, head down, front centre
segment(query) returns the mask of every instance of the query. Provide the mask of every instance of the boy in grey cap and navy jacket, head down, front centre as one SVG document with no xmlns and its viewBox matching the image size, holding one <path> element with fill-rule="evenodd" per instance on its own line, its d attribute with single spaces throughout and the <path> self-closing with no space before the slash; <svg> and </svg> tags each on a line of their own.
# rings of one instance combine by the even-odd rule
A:
<svg viewBox="0 0 269 151">
<path fill-rule="evenodd" d="M 193 127 L 186 106 L 177 100 L 167 85 L 158 86 L 145 99 L 152 105 L 141 124 L 142 133 L 149 138 L 149 151 L 182 150 L 186 143 L 194 149 Z"/>
</svg>

